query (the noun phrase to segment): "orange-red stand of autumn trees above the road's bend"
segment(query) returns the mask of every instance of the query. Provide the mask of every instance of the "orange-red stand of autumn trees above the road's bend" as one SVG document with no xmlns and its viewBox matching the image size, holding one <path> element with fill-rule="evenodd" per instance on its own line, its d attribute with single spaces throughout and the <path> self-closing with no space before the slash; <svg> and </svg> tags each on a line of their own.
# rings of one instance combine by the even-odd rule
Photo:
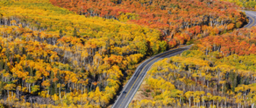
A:
<svg viewBox="0 0 256 108">
<path fill-rule="evenodd" d="M 49 0 L 77 14 L 128 21 L 162 32 L 169 47 L 191 38 L 239 28 L 245 15 L 233 3 L 217 0 Z"/>
</svg>

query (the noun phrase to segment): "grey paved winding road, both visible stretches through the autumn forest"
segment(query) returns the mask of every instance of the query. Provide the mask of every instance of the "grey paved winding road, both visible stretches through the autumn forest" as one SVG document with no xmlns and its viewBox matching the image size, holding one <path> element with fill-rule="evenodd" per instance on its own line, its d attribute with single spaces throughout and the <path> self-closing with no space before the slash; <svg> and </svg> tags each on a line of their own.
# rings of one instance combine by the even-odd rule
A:
<svg viewBox="0 0 256 108">
<path fill-rule="evenodd" d="M 245 28 L 250 28 L 256 25 L 256 12 L 253 11 L 245 11 L 249 22 Z M 125 88 L 123 88 L 122 93 L 119 95 L 118 99 L 114 102 L 112 108 L 126 108 L 133 99 L 134 95 L 137 93 L 137 89 L 143 82 L 144 77 L 147 74 L 147 71 L 150 69 L 151 65 L 153 65 L 156 61 L 162 60 L 164 58 L 169 58 L 177 54 L 183 53 L 184 50 L 187 50 L 191 47 L 183 47 L 177 48 L 173 50 L 166 51 L 161 54 L 154 55 L 153 57 L 145 60 L 141 65 L 137 67 L 137 70 L 132 75 L 129 82 L 125 84 Z"/>
</svg>

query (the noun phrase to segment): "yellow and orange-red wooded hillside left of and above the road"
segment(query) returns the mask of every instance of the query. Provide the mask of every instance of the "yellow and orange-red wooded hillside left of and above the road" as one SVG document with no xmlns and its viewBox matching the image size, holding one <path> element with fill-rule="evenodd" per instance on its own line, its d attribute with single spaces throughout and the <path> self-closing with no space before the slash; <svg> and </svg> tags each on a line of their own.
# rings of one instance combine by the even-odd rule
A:
<svg viewBox="0 0 256 108">
<path fill-rule="evenodd" d="M 3 105 L 107 107 L 147 56 L 192 43 L 192 38 L 233 31 L 246 22 L 245 14 L 236 6 L 227 9 L 224 5 L 233 4 L 218 1 L 139 3 L 136 10 L 124 14 L 118 11 L 113 19 L 91 11 L 98 7 L 90 8 L 94 15 L 85 16 L 86 12 L 59 8 L 55 5 L 62 4 L 54 2 L 0 1 Z M 73 2 L 73 9 L 80 6 L 74 0 L 69 2 Z M 95 6 L 93 1 L 86 2 Z M 130 6 L 122 3 L 112 4 L 115 8 Z M 153 10 L 149 10 L 150 6 Z M 163 14 L 156 13 L 158 10 Z M 190 14 L 194 10 L 202 13 Z"/>
</svg>

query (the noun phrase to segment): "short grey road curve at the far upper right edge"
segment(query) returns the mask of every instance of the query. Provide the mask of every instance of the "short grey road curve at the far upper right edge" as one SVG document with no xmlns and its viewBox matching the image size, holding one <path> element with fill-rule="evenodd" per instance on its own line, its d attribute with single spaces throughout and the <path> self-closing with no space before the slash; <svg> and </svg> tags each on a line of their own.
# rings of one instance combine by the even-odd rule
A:
<svg viewBox="0 0 256 108">
<path fill-rule="evenodd" d="M 244 11 L 247 14 L 249 22 L 244 28 L 251 28 L 256 25 L 256 12 L 255 11 Z"/>
</svg>

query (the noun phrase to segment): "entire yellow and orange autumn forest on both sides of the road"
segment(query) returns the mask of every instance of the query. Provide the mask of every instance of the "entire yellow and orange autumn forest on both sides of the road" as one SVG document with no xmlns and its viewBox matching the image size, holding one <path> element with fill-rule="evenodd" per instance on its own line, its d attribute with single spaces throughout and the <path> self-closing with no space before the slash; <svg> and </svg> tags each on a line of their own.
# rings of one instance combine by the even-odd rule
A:
<svg viewBox="0 0 256 108">
<path fill-rule="evenodd" d="M 147 107 L 148 101 L 152 106 L 224 105 L 215 99 L 192 104 L 194 95 L 184 95 L 190 90 L 200 91 L 198 99 L 207 93 L 237 96 L 238 87 L 253 86 L 253 75 L 242 73 L 255 71 L 255 61 L 247 60 L 256 54 L 256 31 L 236 30 L 248 21 L 238 9 L 218 0 L 1 0 L 0 103 L 108 107 L 141 61 L 195 43 L 181 56 L 156 63 L 146 78 L 155 101 L 133 102 L 131 107 Z M 165 86 L 156 88 L 159 83 Z M 170 95 L 172 90 L 178 93 Z M 247 104 L 250 92 L 241 92 L 243 103 L 234 104 L 235 97 L 225 103 Z"/>
</svg>

